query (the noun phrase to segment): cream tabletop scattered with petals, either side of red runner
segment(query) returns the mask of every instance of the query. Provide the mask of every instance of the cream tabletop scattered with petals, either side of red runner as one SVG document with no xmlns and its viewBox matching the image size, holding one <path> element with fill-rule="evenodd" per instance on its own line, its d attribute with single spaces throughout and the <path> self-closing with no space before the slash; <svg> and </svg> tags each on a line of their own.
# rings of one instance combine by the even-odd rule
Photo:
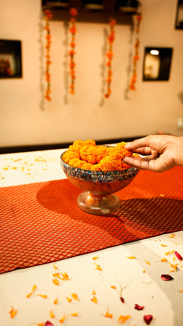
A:
<svg viewBox="0 0 183 326">
<path fill-rule="evenodd" d="M 64 151 L 0 155 L 0 186 L 65 178 L 60 167 Z M 130 316 L 125 326 L 143 326 L 147 325 L 144 315 L 152 315 L 151 326 L 182 326 L 183 260 L 177 259 L 174 252 L 165 255 L 173 250 L 183 256 L 183 231 L 60 260 L 55 265 L 52 262 L 0 274 L 0 325 L 44 325 L 49 320 L 59 326 L 63 316 L 63 325 L 68 326 L 120 325 L 121 315 Z M 163 258 L 167 261 L 162 262 Z M 96 270 L 94 263 L 102 270 Z M 177 271 L 173 272 L 171 265 L 175 264 Z M 59 285 L 54 285 L 55 272 L 67 273 L 69 280 L 59 280 Z M 162 274 L 174 279 L 163 281 Z M 34 293 L 26 297 L 34 285 Z M 72 298 L 72 293 L 77 294 L 78 300 Z M 93 296 L 97 303 L 91 300 Z M 66 297 L 72 301 L 69 303 Z M 54 304 L 56 298 L 58 303 Z M 135 304 L 144 306 L 143 310 L 134 309 Z M 13 319 L 9 314 L 11 307 L 18 310 Z M 50 311 L 55 317 L 50 316 Z M 112 318 L 104 316 L 107 311 Z"/>
</svg>

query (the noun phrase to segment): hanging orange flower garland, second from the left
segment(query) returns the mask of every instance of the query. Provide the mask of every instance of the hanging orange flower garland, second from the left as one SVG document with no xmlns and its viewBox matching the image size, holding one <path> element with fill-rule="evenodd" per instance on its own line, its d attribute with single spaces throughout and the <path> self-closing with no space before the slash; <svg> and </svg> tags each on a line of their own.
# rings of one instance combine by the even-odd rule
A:
<svg viewBox="0 0 183 326">
<path fill-rule="evenodd" d="M 74 62 L 74 55 L 75 55 L 75 34 L 76 34 L 76 17 L 78 14 L 78 11 L 76 8 L 71 8 L 69 11 L 70 15 L 72 16 L 70 18 L 70 22 L 71 22 L 71 28 L 69 29 L 69 31 L 71 32 L 71 43 L 70 43 L 70 47 L 71 50 L 69 51 L 69 55 L 70 55 L 70 63 L 69 63 L 69 67 L 70 67 L 70 76 L 71 76 L 71 84 L 70 84 L 70 94 L 75 94 L 75 85 L 74 85 L 74 80 L 76 78 L 75 75 L 75 67 L 76 67 L 76 63 Z"/>
</svg>

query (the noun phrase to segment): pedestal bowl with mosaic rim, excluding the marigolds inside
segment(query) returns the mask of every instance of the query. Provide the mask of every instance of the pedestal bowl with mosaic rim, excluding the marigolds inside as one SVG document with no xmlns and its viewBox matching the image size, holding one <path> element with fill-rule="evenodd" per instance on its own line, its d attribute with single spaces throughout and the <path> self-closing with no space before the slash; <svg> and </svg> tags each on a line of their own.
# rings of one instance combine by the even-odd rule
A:
<svg viewBox="0 0 183 326">
<path fill-rule="evenodd" d="M 65 153 L 65 152 L 64 152 Z M 114 213 L 120 207 L 120 198 L 114 194 L 129 185 L 139 172 L 136 168 L 119 171 L 92 171 L 75 168 L 63 161 L 61 167 L 67 179 L 83 192 L 77 198 L 77 205 L 93 215 Z"/>
</svg>

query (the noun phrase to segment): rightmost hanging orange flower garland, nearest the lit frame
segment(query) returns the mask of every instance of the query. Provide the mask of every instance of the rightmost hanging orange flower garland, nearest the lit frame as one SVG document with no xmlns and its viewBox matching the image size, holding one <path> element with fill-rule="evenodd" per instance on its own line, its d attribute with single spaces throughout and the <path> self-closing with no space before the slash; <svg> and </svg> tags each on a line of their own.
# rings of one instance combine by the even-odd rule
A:
<svg viewBox="0 0 183 326">
<path fill-rule="evenodd" d="M 135 83 L 137 81 L 137 74 L 136 74 L 136 67 L 137 67 L 137 61 L 139 60 L 139 52 L 138 52 L 138 49 L 139 49 L 139 44 L 140 44 L 140 41 L 139 41 L 139 32 L 140 32 L 140 22 L 142 20 L 142 15 L 141 14 L 137 14 L 136 15 L 136 21 L 137 21 L 137 26 L 136 26 L 136 41 L 135 41 L 135 55 L 133 57 L 133 75 L 132 75 L 132 78 L 131 78 L 131 81 L 130 81 L 130 90 L 131 91 L 134 91 L 135 90 Z"/>
</svg>

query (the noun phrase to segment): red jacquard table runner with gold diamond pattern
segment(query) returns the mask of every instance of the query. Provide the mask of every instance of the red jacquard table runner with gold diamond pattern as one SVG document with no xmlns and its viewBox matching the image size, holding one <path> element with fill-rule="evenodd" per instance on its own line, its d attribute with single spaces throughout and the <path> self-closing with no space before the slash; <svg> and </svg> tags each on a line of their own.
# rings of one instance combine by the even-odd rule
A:
<svg viewBox="0 0 183 326">
<path fill-rule="evenodd" d="M 102 216 L 77 207 L 67 179 L 0 188 L 0 273 L 183 230 L 182 180 L 182 167 L 140 171 Z"/>
</svg>

